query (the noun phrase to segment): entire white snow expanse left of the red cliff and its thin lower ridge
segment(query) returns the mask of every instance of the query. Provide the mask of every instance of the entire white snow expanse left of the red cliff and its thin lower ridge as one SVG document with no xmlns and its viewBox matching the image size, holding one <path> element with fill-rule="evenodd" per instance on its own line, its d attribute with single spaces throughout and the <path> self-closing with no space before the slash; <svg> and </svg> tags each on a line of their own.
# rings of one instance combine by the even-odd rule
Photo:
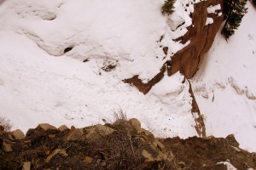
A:
<svg viewBox="0 0 256 170">
<path fill-rule="evenodd" d="M 189 44 L 172 41 L 177 32 L 160 12 L 163 3 L 2 3 L 0 116 L 26 132 L 40 122 L 85 127 L 113 121 L 113 110 L 122 109 L 159 137 L 196 135 L 189 85 L 181 74 L 165 77 L 147 95 L 122 81 L 139 75 L 148 82 L 166 62 L 160 46 L 169 47 L 170 56 Z M 73 49 L 63 54 L 67 47 Z M 116 67 L 103 71 L 106 63 Z"/>
</svg>

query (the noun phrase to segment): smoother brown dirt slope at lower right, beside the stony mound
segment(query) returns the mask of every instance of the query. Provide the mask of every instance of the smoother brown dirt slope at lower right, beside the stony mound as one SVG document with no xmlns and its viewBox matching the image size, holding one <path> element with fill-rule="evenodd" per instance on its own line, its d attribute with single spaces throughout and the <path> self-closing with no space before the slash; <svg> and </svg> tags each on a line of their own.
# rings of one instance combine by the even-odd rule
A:
<svg viewBox="0 0 256 170">
<path fill-rule="evenodd" d="M 230 160 L 239 170 L 256 167 L 256 159 L 246 150 L 237 151 L 238 143 L 233 135 L 223 138 L 201 139 L 162 139 L 167 150 L 172 150 L 177 162 L 183 162 L 187 169 L 226 169 L 217 165 L 220 161 Z"/>
</svg>

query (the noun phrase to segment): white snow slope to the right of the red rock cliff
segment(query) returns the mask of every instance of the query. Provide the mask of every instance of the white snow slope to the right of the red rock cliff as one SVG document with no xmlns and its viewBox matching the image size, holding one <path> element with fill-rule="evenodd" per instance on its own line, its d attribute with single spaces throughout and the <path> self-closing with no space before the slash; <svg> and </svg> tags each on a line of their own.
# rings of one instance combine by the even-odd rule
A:
<svg viewBox="0 0 256 170">
<path fill-rule="evenodd" d="M 192 82 L 195 98 L 206 117 L 207 135 L 235 134 L 240 147 L 256 150 L 256 12 L 248 13 L 235 35 L 224 40 L 218 32 Z"/>
</svg>

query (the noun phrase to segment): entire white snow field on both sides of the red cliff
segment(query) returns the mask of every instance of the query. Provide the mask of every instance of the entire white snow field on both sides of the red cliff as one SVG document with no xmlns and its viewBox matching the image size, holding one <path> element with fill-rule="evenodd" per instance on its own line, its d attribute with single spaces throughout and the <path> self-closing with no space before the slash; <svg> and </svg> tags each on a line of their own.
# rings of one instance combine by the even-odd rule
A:
<svg viewBox="0 0 256 170">
<path fill-rule="evenodd" d="M 3 1 L 0 116 L 26 132 L 40 122 L 56 127 L 104 123 L 113 120 L 113 110 L 122 109 L 158 137 L 197 135 L 189 83 L 182 83 L 180 73 L 165 76 L 146 95 L 122 82 L 134 75 L 148 82 L 166 62 L 162 47 L 174 54 L 188 45 L 172 38 L 192 23 L 189 2 L 177 0 L 176 11 L 167 17 L 160 11 L 164 0 Z M 256 21 L 255 10 L 248 8 L 228 44 L 218 35 L 192 85 L 207 134 L 234 133 L 242 148 L 255 151 Z M 106 64 L 116 67 L 103 71 Z"/>
</svg>

